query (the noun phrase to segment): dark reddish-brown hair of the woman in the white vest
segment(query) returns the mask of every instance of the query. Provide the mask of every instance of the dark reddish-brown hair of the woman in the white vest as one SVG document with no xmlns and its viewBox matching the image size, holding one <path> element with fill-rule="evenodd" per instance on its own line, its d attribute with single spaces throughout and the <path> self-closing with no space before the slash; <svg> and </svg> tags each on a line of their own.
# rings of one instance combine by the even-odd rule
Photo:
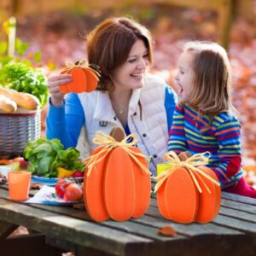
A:
<svg viewBox="0 0 256 256">
<path fill-rule="evenodd" d="M 90 32 L 86 42 L 88 61 L 101 72 L 97 90 L 109 90 L 113 86 L 111 74 L 127 60 L 132 45 L 138 39 L 143 40 L 148 49 L 148 61 L 152 64 L 150 33 L 135 20 L 125 17 L 110 18 Z"/>
</svg>

